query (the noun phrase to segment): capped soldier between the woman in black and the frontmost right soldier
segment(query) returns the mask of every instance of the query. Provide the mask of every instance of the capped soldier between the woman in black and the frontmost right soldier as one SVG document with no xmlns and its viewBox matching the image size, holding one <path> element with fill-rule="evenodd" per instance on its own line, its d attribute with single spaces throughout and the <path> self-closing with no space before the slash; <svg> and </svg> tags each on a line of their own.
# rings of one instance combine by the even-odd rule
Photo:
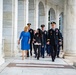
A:
<svg viewBox="0 0 76 75">
<path fill-rule="evenodd" d="M 42 45 L 41 45 L 41 57 L 44 58 L 45 50 L 46 50 L 46 42 L 47 42 L 47 31 L 44 29 L 45 25 L 41 25 L 42 31 Z"/>
</svg>

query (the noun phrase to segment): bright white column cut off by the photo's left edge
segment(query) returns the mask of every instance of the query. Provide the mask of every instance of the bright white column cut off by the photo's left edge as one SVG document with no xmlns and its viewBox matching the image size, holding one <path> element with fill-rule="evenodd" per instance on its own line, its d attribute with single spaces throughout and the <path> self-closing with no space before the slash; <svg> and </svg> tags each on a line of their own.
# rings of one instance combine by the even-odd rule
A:
<svg viewBox="0 0 76 75">
<path fill-rule="evenodd" d="M 3 0 L 0 0 L 0 65 L 4 63 L 2 55 Z"/>
</svg>

